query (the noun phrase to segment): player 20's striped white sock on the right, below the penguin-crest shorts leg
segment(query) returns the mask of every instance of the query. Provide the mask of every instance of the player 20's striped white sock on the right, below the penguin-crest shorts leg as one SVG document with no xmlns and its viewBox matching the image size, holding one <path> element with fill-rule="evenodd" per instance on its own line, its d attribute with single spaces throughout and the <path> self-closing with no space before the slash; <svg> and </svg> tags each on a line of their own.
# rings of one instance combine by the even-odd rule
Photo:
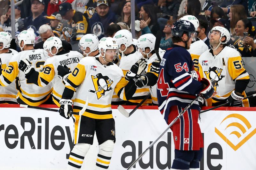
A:
<svg viewBox="0 0 256 170">
<path fill-rule="evenodd" d="M 114 149 L 114 141 L 107 140 L 99 145 L 99 153 L 96 160 L 95 170 L 108 169 Z"/>
</svg>

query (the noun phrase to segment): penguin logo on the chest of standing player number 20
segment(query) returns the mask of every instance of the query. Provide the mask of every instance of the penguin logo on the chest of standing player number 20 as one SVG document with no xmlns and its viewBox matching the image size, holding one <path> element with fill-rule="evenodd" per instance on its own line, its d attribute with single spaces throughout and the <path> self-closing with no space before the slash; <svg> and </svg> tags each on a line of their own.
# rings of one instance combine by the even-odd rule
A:
<svg viewBox="0 0 256 170">
<path fill-rule="evenodd" d="M 108 76 L 103 76 L 101 73 L 98 73 L 96 76 L 91 76 L 95 91 L 89 90 L 89 92 L 96 93 L 98 100 L 102 96 L 105 96 L 105 92 L 113 89 L 111 87 L 113 80 L 111 80 Z"/>
</svg>

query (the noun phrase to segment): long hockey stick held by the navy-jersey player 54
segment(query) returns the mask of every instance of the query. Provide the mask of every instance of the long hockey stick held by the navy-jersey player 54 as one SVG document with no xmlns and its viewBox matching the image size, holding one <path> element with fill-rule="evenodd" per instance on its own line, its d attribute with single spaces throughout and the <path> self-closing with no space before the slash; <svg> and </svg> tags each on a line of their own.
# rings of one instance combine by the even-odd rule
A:
<svg viewBox="0 0 256 170">
<path fill-rule="evenodd" d="M 165 132 L 167 132 L 167 130 L 170 129 L 170 127 L 188 110 L 188 108 L 189 108 L 190 106 L 192 106 L 192 105 L 195 103 L 195 101 L 196 101 L 200 96 L 201 96 L 201 95 L 198 95 L 194 100 L 192 100 L 192 101 L 188 104 L 188 106 L 186 106 L 186 107 L 184 108 L 184 110 L 169 124 L 168 128 L 166 128 L 166 129 L 164 130 L 164 132 L 163 132 L 159 137 L 157 137 L 157 139 L 156 139 L 154 142 L 152 142 L 152 143 L 148 146 L 148 148 L 147 148 L 144 152 L 142 152 L 142 153 L 139 155 L 139 157 L 138 157 L 135 161 L 132 162 L 132 164 L 128 167 L 127 170 L 132 169 L 132 167 L 143 157 L 143 155 L 145 155 L 145 153 L 146 153 L 163 135 L 164 135 Z"/>
</svg>

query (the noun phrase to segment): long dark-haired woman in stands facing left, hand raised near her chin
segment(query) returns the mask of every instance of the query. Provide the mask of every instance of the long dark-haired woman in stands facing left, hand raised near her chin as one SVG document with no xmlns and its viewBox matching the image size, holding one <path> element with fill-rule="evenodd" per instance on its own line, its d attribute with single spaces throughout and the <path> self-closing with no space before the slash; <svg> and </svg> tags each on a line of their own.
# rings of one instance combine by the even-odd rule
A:
<svg viewBox="0 0 256 170">
<path fill-rule="evenodd" d="M 156 32 L 160 29 L 157 23 L 157 16 L 153 5 L 143 5 L 140 8 L 140 29 L 141 35 L 152 33 L 156 36 Z"/>
</svg>

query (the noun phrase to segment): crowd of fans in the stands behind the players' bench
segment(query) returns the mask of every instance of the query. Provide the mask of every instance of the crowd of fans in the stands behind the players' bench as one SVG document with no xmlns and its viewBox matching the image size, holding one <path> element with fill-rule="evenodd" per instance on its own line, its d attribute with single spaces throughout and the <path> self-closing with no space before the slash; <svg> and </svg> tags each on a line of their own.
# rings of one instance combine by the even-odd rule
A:
<svg viewBox="0 0 256 170">
<path fill-rule="evenodd" d="M 209 48 L 209 31 L 213 26 L 223 26 L 230 30 L 232 38 L 228 42 L 229 47 L 238 50 L 242 57 L 256 56 L 253 26 L 256 2 L 253 0 L 136 0 L 135 4 L 135 38 L 146 33 L 156 35 L 161 30 L 160 47 L 167 49 L 172 47 L 172 23 L 184 15 L 193 15 L 200 22 L 198 38 Z M 6 9 L 5 6 L 2 9 L 4 13 L 0 28 L 11 32 L 11 8 L 9 6 Z M 54 36 L 69 42 L 73 50 L 77 50 L 78 41 L 86 33 L 92 33 L 100 39 L 113 36 L 120 29 L 131 30 L 131 2 L 23 0 L 19 6 L 15 6 L 16 36 L 30 28 L 35 32 L 35 44 L 45 41 L 49 36 L 42 38 L 44 33 L 39 30 L 44 24 L 51 26 Z M 19 48 L 16 49 L 19 51 Z"/>
</svg>

